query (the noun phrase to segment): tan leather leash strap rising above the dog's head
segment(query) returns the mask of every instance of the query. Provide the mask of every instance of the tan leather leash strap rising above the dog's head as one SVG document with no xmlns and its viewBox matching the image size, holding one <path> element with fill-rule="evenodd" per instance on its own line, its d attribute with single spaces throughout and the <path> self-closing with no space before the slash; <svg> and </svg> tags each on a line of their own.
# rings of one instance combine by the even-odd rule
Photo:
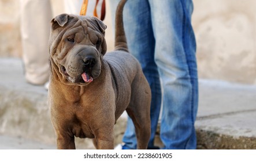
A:
<svg viewBox="0 0 256 161">
<path fill-rule="evenodd" d="M 81 6 L 81 10 L 80 10 L 80 16 L 86 16 L 86 11 L 87 11 L 87 7 L 88 7 L 88 1 L 89 0 L 83 0 L 83 4 Z M 100 9 L 101 9 L 101 15 L 98 16 L 98 13 L 97 13 L 97 8 L 99 7 L 99 1 L 100 0 L 96 0 L 96 4 L 95 4 L 95 7 L 94 7 L 94 12 L 93 12 L 93 15 L 95 17 L 98 17 L 100 18 L 102 21 L 104 20 L 105 18 L 105 14 L 106 14 L 106 5 L 105 5 L 105 0 L 102 0 L 102 4 L 100 6 Z"/>
</svg>

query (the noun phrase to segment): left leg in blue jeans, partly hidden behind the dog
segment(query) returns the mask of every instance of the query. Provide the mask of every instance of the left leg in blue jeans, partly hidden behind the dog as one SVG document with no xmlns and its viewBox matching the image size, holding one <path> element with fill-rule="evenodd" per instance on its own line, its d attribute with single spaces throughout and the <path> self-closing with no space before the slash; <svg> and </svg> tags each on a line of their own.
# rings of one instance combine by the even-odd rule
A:
<svg viewBox="0 0 256 161">
<path fill-rule="evenodd" d="M 114 18 L 117 1 L 112 1 L 111 3 Z M 124 28 L 129 52 L 139 60 L 151 87 L 151 137 L 149 148 L 155 148 L 154 137 L 161 106 L 161 89 L 157 66 L 154 62 L 155 40 L 150 17 L 150 8 L 147 0 L 129 0 L 124 6 Z M 124 149 L 136 148 L 135 129 L 131 118 L 128 118 L 123 142 L 125 143 Z"/>
</svg>

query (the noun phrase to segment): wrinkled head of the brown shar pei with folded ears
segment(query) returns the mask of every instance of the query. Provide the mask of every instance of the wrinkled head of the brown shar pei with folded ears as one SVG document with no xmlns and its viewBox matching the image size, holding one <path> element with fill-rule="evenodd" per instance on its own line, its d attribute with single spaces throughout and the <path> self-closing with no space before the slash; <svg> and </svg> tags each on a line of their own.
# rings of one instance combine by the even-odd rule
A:
<svg viewBox="0 0 256 161">
<path fill-rule="evenodd" d="M 62 80 L 87 85 L 101 74 L 106 25 L 96 17 L 61 14 L 51 21 L 51 63 Z"/>
</svg>

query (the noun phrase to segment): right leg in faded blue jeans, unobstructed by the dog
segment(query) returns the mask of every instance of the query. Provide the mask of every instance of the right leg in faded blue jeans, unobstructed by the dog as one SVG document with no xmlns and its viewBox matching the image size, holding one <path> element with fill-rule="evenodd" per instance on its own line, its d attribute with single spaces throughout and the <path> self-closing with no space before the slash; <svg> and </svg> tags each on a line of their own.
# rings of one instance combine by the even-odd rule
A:
<svg viewBox="0 0 256 161">
<path fill-rule="evenodd" d="M 163 91 L 161 140 L 166 149 L 195 149 L 198 77 L 192 1 L 149 1 Z"/>
</svg>

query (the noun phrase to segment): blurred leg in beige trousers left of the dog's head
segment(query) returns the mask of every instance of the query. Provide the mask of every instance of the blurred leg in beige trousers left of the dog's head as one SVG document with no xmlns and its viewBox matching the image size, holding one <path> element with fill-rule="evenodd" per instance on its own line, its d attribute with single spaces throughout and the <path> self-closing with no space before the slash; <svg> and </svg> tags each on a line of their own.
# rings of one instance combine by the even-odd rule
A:
<svg viewBox="0 0 256 161">
<path fill-rule="evenodd" d="M 25 78 L 29 83 L 43 85 L 49 80 L 51 6 L 49 0 L 22 0 L 21 42 Z"/>
</svg>

